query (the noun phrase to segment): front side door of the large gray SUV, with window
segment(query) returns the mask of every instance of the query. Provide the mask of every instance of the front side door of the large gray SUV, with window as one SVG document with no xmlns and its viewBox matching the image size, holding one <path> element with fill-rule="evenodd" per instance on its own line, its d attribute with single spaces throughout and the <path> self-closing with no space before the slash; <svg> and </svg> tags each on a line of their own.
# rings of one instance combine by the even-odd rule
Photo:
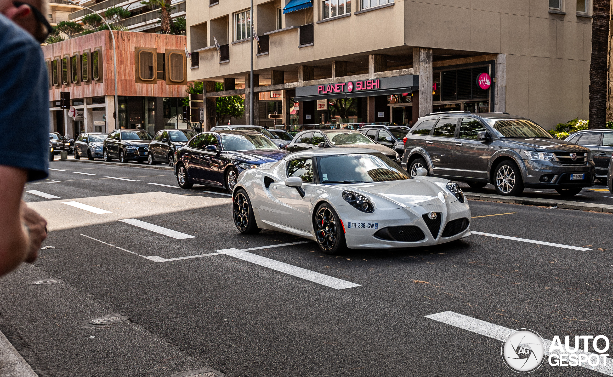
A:
<svg viewBox="0 0 613 377">
<path fill-rule="evenodd" d="M 487 165 L 492 156 L 490 142 L 477 140 L 477 134 L 487 131 L 484 124 L 475 118 L 462 118 L 460 132 L 454 145 L 452 162 L 455 177 L 487 179 Z"/>
</svg>

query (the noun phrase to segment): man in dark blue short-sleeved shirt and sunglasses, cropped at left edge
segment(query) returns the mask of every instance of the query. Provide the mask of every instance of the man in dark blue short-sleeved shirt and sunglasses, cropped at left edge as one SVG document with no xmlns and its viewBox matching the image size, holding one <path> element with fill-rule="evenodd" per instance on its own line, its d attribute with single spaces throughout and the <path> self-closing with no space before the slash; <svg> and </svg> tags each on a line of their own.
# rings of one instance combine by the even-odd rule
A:
<svg viewBox="0 0 613 377">
<path fill-rule="evenodd" d="M 45 219 L 21 200 L 26 181 L 48 175 L 48 77 L 32 37 L 48 34 L 40 8 L 0 0 L 0 275 L 33 262 L 47 237 Z"/>
</svg>

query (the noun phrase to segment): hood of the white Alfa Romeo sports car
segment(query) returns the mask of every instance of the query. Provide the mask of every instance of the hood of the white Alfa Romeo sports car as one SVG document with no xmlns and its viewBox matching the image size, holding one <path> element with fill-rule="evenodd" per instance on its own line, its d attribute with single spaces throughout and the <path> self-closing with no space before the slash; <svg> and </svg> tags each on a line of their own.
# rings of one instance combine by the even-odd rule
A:
<svg viewBox="0 0 613 377">
<path fill-rule="evenodd" d="M 371 197 L 375 202 L 375 208 L 394 209 L 455 202 L 457 200 L 455 196 L 443 189 L 447 182 L 449 181 L 441 178 L 419 177 L 402 181 L 342 186 Z"/>
</svg>

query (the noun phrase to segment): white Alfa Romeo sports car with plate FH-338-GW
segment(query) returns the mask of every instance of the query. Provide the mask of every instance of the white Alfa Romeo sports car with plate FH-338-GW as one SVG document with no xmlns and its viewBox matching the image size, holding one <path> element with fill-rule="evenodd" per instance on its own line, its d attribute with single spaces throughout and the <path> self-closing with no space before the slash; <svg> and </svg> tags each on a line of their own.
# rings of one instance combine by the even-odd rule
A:
<svg viewBox="0 0 613 377">
<path fill-rule="evenodd" d="M 346 247 L 437 245 L 470 235 L 470 208 L 457 184 L 411 179 L 368 149 L 297 152 L 245 170 L 233 202 L 234 223 L 243 234 L 277 230 L 314 240 L 327 254 Z"/>
</svg>

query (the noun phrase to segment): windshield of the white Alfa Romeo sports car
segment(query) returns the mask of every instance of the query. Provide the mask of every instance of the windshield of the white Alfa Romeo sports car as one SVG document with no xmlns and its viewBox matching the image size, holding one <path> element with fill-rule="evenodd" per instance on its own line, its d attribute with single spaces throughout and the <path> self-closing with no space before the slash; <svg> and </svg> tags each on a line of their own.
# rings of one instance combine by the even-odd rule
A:
<svg viewBox="0 0 613 377">
<path fill-rule="evenodd" d="M 410 177 L 383 154 L 341 154 L 319 158 L 322 183 L 362 183 L 408 180 Z"/>
</svg>

